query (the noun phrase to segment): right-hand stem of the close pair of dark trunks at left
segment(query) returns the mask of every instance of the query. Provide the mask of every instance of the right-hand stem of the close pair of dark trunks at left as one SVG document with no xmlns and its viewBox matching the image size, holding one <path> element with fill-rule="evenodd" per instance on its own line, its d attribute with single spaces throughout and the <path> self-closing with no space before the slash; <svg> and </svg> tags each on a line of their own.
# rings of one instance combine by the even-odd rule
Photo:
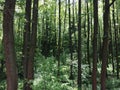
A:
<svg viewBox="0 0 120 90">
<path fill-rule="evenodd" d="M 31 31 L 31 43 L 30 43 L 30 51 L 29 51 L 29 60 L 28 60 L 28 72 L 27 72 L 27 80 L 34 79 L 34 57 L 36 50 L 36 42 L 37 42 L 37 24 L 38 24 L 38 0 L 33 1 L 33 14 L 32 14 L 32 31 Z M 32 90 L 32 83 L 29 83 L 26 90 Z"/>
</svg>

